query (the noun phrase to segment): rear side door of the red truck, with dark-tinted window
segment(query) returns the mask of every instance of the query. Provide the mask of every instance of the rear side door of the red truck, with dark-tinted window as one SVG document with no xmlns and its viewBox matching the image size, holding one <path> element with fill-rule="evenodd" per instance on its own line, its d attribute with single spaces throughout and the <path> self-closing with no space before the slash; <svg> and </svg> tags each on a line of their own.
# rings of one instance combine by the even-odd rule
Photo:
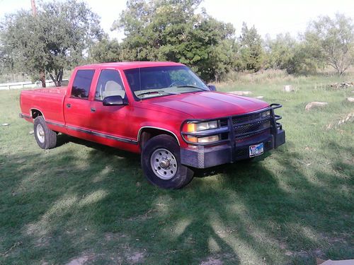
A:
<svg viewBox="0 0 354 265">
<path fill-rule="evenodd" d="M 79 69 L 74 73 L 70 95 L 64 100 L 64 119 L 70 134 L 88 133 L 90 131 L 91 102 L 89 95 L 95 75 L 94 69 Z"/>
</svg>

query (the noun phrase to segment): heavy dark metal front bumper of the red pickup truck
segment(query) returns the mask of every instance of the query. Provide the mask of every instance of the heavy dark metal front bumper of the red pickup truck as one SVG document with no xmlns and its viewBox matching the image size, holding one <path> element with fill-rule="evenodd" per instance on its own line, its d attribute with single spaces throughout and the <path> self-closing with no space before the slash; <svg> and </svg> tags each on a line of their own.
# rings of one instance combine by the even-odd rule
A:
<svg viewBox="0 0 354 265">
<path fill-rule="evenodd" d="M 277 107 L 281 105 L 277 105 Z M 274 107 L 273 107 L 274 108 Z M 226 163 L 234 163 L 237 160 L 249 158 L 249 146 L 263 143 L 263 153 L 285 143 L 285 131 L 280 123 L 280 116 L 275 115 L 270 105 L 270 134 L 253 136 L 246 141 L 234 141 L 234 134 L 231 134 L 229 141 L 224 141 L 215 146 L 196 145 L 188 148 L 181 148 L 181 164 L 196 168 L 213 167 Z M 230 131 L 233 131 L 230 125 Z"/>
</svg>

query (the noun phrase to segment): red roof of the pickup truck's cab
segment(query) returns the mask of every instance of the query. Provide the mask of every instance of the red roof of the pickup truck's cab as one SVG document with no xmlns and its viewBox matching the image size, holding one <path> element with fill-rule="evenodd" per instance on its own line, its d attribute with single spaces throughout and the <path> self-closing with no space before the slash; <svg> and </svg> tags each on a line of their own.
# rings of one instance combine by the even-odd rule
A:
<svg viewBox="0 0 354 265">
<path fill-rule="evenodd" d="M 153 66 L 184 66 L 184 64 L 175 63 L 173 61 L 117 61 L 112 63 L 102 63 L 102 64 L 87 64 L 84 66 L 77 66 L 78 69 L 97 69 L 97 68 L 119 68 L 134 69 L 143 67 L 153 67 Z"/>
</svg>

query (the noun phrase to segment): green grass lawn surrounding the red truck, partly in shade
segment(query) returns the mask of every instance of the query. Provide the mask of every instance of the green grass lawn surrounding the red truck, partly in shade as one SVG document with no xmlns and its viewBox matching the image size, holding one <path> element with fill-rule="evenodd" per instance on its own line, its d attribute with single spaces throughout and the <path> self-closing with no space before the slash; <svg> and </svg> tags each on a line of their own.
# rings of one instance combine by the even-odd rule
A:
<svg viewBox="0 0 354 265">
<path fill-rule="evenodd" d="M 344 78 L 353 81 L 353 76 Z M 350 80 L 351 79 L 351 80 Z M 354 112 L 335 77 L 257 78 L 287 143 L 253 163 L 198 172 L 184 189 L 144 179 L 139 156 L 61 136 L 42 151 L 0 92 L 0 264 L 315 264 L 354 258 Z M 282 92 L 290 84 L 294 93 Z M 304 110 L 309 101 L 321 110 Z M 326 127 L 331 124 L 331 129 Z M 206 176 L 205 176 L 206 175 Z"/>
</svg>

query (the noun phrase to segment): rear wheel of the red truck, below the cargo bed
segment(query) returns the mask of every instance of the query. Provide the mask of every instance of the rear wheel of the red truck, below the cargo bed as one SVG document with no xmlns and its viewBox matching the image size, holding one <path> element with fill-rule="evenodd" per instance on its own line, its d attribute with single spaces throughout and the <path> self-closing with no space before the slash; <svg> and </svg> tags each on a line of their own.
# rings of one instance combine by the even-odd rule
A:
<svg viewBox="0 0 354 265">
<path fill-rule="evenodd" d="M 55 148 L 57 145 L 57 134 L 48 128 L 42 116 L 35 118 L 34 122 L 35 141 L 42 149 Z"/>
</svg>

